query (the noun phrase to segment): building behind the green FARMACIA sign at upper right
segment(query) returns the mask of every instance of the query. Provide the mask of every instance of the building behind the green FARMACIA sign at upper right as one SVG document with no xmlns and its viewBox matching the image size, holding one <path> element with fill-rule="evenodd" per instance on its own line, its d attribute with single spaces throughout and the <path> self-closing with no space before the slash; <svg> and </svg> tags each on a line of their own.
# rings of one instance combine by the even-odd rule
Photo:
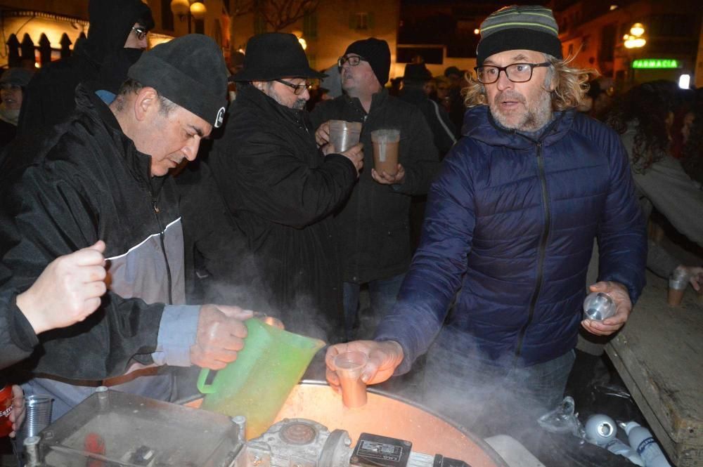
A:
<svg viewBox="0 0 703 467">
<path fill-rule="evenodd" d="M 555 15 L 565 56 L 575 55 L 575 65 L 595 67 L 615 88 L 626 90 L 695 74 L 701 13 L 699 1 L 584 0 Z M 635 23 L 643 25 L 646 42 L 627 48 L 625 37 Z"/>
</svg>

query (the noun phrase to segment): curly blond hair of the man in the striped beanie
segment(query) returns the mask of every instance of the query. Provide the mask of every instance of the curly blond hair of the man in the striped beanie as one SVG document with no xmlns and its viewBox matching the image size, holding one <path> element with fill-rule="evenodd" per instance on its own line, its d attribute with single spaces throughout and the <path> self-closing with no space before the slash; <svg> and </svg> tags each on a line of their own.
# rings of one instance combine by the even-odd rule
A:
<svg viewBox="0 0 703 467">
<path fill-rule="evenodd" d="M 567 57 L 564 60 L 555 58 L 547 53 L 543 55 L 546 59 L 545 61 L 551 64 L 549 74 L 545 80 L 546 86 L 549 86 L 553 79 L 556 80 L 556 86 L 554 91 L 552 91 L 553 110 L 567 110 L 581 106 L 589 88 L 588 80 L 591 77 L 598 77 L 600 74 L 598 70 L 593 68 L 581 70 L 570 67 L 569 64 L 574 61 L 576 55 Z M 464 105 L 466 107 L 488 105 L 485 86 L 470 74 L 466 75 L 466 79 L 469 85 L 461 91 L 464 96 Z"/>
</svg>

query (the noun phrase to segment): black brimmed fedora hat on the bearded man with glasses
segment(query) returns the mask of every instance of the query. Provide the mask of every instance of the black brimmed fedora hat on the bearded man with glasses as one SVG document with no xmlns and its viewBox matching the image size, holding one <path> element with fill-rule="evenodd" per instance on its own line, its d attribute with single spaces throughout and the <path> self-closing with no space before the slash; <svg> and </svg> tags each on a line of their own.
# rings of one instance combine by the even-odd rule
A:
<svg viewBox="0 0 703 467">
<path fill-rule="evenodd" d="M 293 34 L 266 32 L 247 42 L 243 69 L 231 81 L 273 81 L 280 78 L 324 78 L 313 70 Z"/>
</svg>

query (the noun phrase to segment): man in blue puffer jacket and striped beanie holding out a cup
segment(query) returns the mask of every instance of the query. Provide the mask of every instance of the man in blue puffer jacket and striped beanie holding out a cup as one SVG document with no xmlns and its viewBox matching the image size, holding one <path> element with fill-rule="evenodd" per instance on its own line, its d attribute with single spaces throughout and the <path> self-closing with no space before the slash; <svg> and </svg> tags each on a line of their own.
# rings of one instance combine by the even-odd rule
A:
<svg viewBox="0 0 703 467">
<path fill-rule="evenodd" d="M 626 153 L 613 131 L 575 112 L 588 70 L 562 60 L 552 12 L 506 7 L 481 32 L 463 138 L 430 189 L 399 303 L 374 341 L 327 355 L 333 385 L 333 357 L 347 349 L 369 355 L 363 379 L 378 383 L 434 343 L 425 402 L 474 428 L 484 407 L 495 416 L 491 402 L 508 413 L 515 403 L 534 414 L 554 408 L 579 326 L 609 335 L 625 324 L 646 257 Z M 594 237 L 600 277 L 591 290 L 617 304 L 603 322 L 581 320 Z"/>
</svg>

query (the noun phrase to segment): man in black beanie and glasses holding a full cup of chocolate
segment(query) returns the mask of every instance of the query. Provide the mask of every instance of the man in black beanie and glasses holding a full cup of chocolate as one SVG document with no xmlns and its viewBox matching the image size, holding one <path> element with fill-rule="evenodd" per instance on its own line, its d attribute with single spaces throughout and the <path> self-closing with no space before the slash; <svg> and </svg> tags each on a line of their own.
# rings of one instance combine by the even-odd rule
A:
<svg viewBox="0 0 703 467">
<path fill-rule="evenodd" d="M 395 303 L 411 260 L 411 197 L 427 193 L 439 166 L 439 151 L 418 107 L 389 96 L 384 88 L 391 65 L 386 41 L 370 37 L 353 42 L 338 65 L 344 94 L 318 104 L 311 119 L 321 147 L 330 145 L 330 120 L 363 124 L 364 169 L 349 202 L 335 217 L 342 238 L 345 331 L 352 339 L 363 284 L 368 284 L 371 296 L 370 322 Z M 371 132 L 376 130 L 400 131 L 398 163 L 385 170 L 374 165 Z M 373 324 L 356 336 L 368 337 L 371 329 Z"/>
</svg>

